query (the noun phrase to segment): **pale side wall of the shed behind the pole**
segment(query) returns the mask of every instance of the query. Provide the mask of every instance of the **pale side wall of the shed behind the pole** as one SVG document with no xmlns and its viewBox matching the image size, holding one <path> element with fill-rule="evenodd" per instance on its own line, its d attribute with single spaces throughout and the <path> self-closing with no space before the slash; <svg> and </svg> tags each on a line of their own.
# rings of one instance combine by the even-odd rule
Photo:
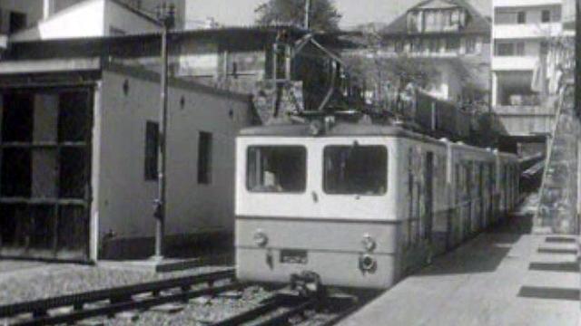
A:
<svg viewBox="0 0 581 326">
<path fill-rule="evenodd" d="M 128 93 L 123 93 L 123 84 Z M 145 124 L 157 121 L 159 84 L 122 72 L 103 72 L 98 149 L 99 235 L 153 236 L 157 182 L 144 179 Z M 183 98 L 183 106 L 181 101 Z M 249 101 L 207 91 L 169 91 L 166 235 L 231 232 L 234 139 L 251 123 Z M 198 135 L 212 133 L 212 182 L 197 182 Z"/>
</svg>

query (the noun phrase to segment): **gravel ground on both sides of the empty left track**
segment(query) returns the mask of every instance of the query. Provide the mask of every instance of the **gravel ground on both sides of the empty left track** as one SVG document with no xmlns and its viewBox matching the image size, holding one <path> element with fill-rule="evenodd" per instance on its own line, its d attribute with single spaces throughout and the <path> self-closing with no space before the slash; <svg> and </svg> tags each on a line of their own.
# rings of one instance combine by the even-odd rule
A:
<svg viewBox="0 0 581 326">
<path fill-rule="evenodd" d="M 9 269 L 8 265 L 12 265 L 13 268 L 10 271 L 14 271 L 18 264 L 0 262 L 0 268 L 4 268 L 4 270 Z M 2 277 L 2 273 L 0 273 L 0 305 L 185 275 L 212 273 L 224 269 L 224 267 L 200 267 L 175 273 L 151 273 L 133 269 L 113 269 L 74 264 L 46 264 L 46 267 L 30 269 L 26 269 L 28 265 L 24 264 L 21 267 L 25 269 L 23 273 L 18 273 L 17 276 Z M 13 274 L 15 273 L 6 273 L 6 275 Z M 261 286 L 249 286 L 241 291 L 225 292 L 215 297 L 194 298 L 184 304 L 178 303 L 179 309 L 176 312 L 158 312 L 156 310 L 123 312 L 113 318 L 103 317 L 93 321 L 99 321 L 107 326 L 135 324 L 152 326 L 208 325 L 251 310 L 260 305 L 262 301 L 271 298 L 273 294 L 274 292 L 270 289 L 265 289 Z M 281 312 L 283 311 L 284 309 Z M 294 323 L 297 325 L 316 326 L 329 321 L 335 316 L 335 313 L 336 311 L 333 309 L 309 312 L 306 318 L 298 318 Z M 80 324 L 83 324 L 83 322 Z"/>
</svg>

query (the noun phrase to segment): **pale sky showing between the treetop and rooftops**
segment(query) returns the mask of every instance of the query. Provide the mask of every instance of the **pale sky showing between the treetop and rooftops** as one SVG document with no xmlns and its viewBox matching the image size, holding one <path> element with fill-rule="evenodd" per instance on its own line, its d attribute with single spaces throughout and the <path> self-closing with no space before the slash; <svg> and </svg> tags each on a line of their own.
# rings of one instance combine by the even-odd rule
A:
<svg viewBox="0 0 581 326">
<path fill-rule="evenodd" d="M 256 19 L 254 9 L 266 0 L 186 0 L 189 23 L 213 17 L 226 25 L 249 25 Z M 317 1 L 317 0 L 312 0 Z M 343 15 L 340 27 L 349 29 L 358 24 L 390 23 L 419 0 L 334 0 Z M 491 0 L 468 0 L 480 13 L 489 15 Z"/>
</svg>

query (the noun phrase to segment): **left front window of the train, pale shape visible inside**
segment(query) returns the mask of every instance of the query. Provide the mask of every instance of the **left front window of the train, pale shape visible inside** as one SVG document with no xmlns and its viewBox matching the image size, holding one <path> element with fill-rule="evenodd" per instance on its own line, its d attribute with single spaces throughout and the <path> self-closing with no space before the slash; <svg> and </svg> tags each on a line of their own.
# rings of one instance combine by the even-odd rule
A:
<svg viewBox="0 0 581 326">
<path fill-rule="evenodd" d="M 248 149 L 246 187 L 251 192 L 299 193 L 307 184 L 307 149 L 253 146 Z"/>
</svg>

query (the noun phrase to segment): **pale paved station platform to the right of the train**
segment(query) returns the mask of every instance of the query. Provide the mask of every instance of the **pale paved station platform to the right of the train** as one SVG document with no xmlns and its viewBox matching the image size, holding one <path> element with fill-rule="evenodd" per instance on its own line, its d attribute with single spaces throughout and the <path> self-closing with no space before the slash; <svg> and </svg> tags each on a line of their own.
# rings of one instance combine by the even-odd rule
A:
<svg viewBox="0 0 581 326">
<path fill-rule="evenodd" d="M 531 228 L 530 213 L 510 216 L 340 325 L 581 325 L 577 237 Z"/>
</svg>

